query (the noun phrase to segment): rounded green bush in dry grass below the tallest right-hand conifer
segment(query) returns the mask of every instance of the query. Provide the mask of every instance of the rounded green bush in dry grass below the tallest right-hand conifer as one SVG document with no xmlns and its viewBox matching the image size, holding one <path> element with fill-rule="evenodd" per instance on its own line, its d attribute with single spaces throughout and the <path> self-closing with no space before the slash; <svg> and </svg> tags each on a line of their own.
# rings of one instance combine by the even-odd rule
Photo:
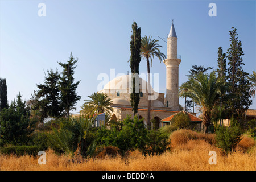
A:
<svg viewBox="0 0 256 182">
<path fill-rule="evenodd" d="M 216 130 L 217 147 L 224 151 L 224 154 L 232 152 L 241 140 L 242 131 L 237 121 L 231 119 L 230 127 L 220 126 Z"/>
</svg>

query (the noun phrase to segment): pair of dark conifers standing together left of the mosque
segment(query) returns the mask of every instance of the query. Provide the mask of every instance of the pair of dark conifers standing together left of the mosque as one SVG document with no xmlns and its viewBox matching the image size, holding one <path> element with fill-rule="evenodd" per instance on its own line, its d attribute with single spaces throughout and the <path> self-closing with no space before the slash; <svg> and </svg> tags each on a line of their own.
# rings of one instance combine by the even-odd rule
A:
<svg viewBox="0 0 256 182">
<path fill-rule="evenodd" d="M 58 118 L 62 115 L 69 117 L 70 111 L 75 109 L 76 102 L 81 96 L 76 93 L 79 82 L 74 83 L 75 64 L 78 59 L 74 60 L 72 53 L 67 63 L 59 63 L 63 68 L 61 75 L 56 69 L 51 69 L 48 76 L 45 77 L 44 84 L 36 85 L 38 91 L 32 96 L 31 109 L 40 111 L 41 121 L 45 118 Z"/>
</svg>

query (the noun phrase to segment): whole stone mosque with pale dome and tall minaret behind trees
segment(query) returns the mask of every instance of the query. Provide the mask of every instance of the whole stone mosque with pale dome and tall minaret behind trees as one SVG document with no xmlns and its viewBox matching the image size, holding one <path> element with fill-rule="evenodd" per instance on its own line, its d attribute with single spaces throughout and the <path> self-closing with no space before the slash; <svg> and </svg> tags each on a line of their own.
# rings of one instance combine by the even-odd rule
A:
<svg viewBox="0 0 256 182">
<path fill-rule="evenodd" d="M 147 81 L 139 78 L 140 100 L 137 115 L 140 119 L 144 118 L 145 125 L 147 125 L 149 97 L 151 97 L 151 119 L 154 118 L 159 123 L 159 127 L 170 123 L 168 118 L 180 111 L 179 64 L 181 63 L 181 56 L 177 55 L 177 35 L 173 23 L 167 38 L 167 59 L 163 62 L 166 65 L 166 94 L 155 92 Z M 116 77 L 100 91 L 100 93 L 106 93 L 112 99 L 113 112 L 111 115 L 114 121 L 125 119 L 127 114 L 133 115 L 130 104 L 130 80 L 131 75 Z M 189 113 L 188 115 L 191 121 L 196 122 L 201 128 L 202 120 L 195 117 L 196 113 Z"/>
</svg>

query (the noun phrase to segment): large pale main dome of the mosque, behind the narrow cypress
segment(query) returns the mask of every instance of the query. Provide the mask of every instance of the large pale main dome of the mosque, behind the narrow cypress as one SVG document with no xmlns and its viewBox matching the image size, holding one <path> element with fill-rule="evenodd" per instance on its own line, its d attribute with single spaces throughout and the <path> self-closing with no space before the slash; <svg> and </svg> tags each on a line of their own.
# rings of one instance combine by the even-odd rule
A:
<svg viewBox="0 0 256 182">
<path fill-rule="evenodd" d="M 139 78 L 139 90 L 143 93 L 147 93 L 147 81 L 143 80 L 142 78 Z M 119 91 L 120 93 L 128 93 L 127 89 L 129 90 L 131 88 L 131 75 L 122 75 L 119 77 L 114 78 L 113 80 L 109 81 L 108 84 L 106 84 L 103 88 L 103 90 L 114 90 Z M 154 89 L 152 86 L 151 93 L 154 93 Z M 114 92 L 115 93 L 115 92 Z"/>
</svg>

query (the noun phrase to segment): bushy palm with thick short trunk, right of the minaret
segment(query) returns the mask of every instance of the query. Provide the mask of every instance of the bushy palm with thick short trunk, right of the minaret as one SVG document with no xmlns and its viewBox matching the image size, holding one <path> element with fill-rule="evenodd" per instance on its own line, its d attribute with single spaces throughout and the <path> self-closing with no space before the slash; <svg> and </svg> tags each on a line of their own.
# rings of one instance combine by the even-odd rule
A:
<svg viewBox="0 0 256 182">
<path fill-rule="evenodd" d="M 217 104 L 220 94 L 225 90 L 225 81 L 217 78 L 213 71 L 209 76 L 200 72 L 193 77 L 189 77 L 186 83 L 183 87 L 187 89 L 187 92 L 181 93 L 181 96 L 192 98 L 200 106 L 205 126 L 204 133 L 207 134 L 212 119 L 213 107 Z"/>
</svg>

